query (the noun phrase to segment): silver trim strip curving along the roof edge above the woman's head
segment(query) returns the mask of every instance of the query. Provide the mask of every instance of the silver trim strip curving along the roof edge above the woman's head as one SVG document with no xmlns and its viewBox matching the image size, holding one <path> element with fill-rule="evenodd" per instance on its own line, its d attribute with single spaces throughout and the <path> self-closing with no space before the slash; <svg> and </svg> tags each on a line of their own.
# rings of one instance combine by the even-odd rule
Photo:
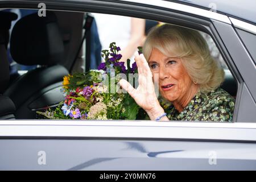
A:
<svg viewBox="0 0 256 182">
<path fill-rule="evenodd" d="M 206 18 L 218 20 L 220 22 L 231 24 L 228 16 L 222 15 L 220 13 L 216 13 L 209 10 L 200 9 L 198 7 L 183 5 L 180 3 L 169 2 L 169 1 L 162 1 L 162 0 L 117 0 L 123 2 L 134 2 L 134 3 L 141 3 L 146 5 L 164 7 L 172 10 L 183 11 L 185 13 L 191 13 L 199 16 L 204 16 Z"/>
</svg>

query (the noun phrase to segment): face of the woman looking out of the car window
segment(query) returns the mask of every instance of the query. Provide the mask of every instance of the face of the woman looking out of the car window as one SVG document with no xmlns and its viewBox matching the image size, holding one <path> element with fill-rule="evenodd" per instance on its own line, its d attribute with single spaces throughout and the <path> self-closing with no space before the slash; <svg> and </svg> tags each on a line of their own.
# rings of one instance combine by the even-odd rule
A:
<svg viewBox="0 0 256 182">
<path fill-rule="evenodd" d="M 195 84 L 183 67 L 181 59 L 174 55 L 168 57 L 154 48 L 148 60 L 153 77 L 159 74 L 159 90 L 161 95 L 171 102 L 187 102 L 191 99 L 192 87 Z"/>
</svg>

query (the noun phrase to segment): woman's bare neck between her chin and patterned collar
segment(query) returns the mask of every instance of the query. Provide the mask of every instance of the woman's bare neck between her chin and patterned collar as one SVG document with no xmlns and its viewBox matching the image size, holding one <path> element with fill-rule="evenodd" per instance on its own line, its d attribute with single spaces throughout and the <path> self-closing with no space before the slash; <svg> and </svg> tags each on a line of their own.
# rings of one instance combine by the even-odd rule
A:
<svg viewBox="0 0 256 182">
<path fill-rule="evenodd" d="M 181 113 L 185 107 L 191 102 L 192 98 L 195 97 L 197 91 L 199 90 L 198 84 L 193 84 L 191 86 L 190 92 L 187 92 L 183 98 L 181 98 L 180 101 L 173 101 L 172 104 L 174 105 L 175 109 Z"/>
</svg>

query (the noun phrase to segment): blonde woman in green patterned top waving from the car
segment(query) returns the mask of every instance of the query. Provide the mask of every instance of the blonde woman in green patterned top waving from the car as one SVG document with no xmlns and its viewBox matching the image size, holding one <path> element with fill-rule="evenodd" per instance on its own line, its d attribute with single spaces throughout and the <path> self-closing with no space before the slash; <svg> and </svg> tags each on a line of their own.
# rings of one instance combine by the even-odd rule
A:
<svg viewBox="0 0 256 182">
<path fill-rule="evenodd" d="M 122 88 L 156 121 L 232 121 L 234 98 L 220 88 L 224 71 L 210 56 L 195 30 L 164 24 L 150 31 L 143 55 L 135 56 L 139 86 L 121 80 Z M 154 92 L 158 76 L 161 96 L 171 102 L 163 109 Z"/>
</svg>

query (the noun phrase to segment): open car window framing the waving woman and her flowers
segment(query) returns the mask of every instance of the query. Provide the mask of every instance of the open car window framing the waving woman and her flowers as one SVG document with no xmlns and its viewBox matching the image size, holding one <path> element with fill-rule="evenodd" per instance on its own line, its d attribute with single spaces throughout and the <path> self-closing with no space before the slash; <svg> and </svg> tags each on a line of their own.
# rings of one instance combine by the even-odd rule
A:
<svg viewBox="0 0 256 182">
<path fill-rule="evenodd" d="M 18 109 L 29 108 L 29 111 L 19 111 L 22 113 L 19 118 L 232 122 L 236 81 L 210 35 L 174 24 L 128 16 L 78 15 L 80 23 L 69 27 L 64 19 L 67 16 L 75 18 L 75 13 L 52 11 L 48 14 L 54 19 L 54 23 L 47 24 L 46 21 L 45 25 L 52 26 L 46 38 L 54 35 L 47 42 L 51 49 L 49 56 L 76 65 L 78 52 L 80 57 L 85 57 L 85 61 L 80 60 L 79 67 L 90 61 L 90 71 L 81 69 L 69 73 L 57 63 L 42 68 L 48 73 L 48 68 L 55 66 L 56 71 L 51 72 L 51 78 L 35 75 L 38 83 L 53 78 L 54 81 L 40 85 L 39 92 L 31 96 L 24 93 L 29 99 Z M 89 23 L 90 16 L 94 20 L 84 42 L 82 27 Z M 79 36 L 75 38 L 69 28 Z M 40 35 L 36 36 L 43 44 Z M 76 42 L 75 46 L 72 42 Z M 137 52 L 143 56 L 135 62 Z M 68 59 L 64 55 L 73 57 Z M 40 56 L 38 59 L 46 55 Z M 11 67 L 13 65 L 22 71 L 22 65 L 10 63 Z M 32 65 L 24 70 L 37 67 Z M 139 73 L 146 77 L 138 79 Z M 24 72 L 26 74 L 31 73 Z M 153 76 L 151 80 L 145 80 L 150 75 Z M 129 81 L 129 89 L 124 81 L 119 82 L 121 78 Z M 29 82 L 24 84 L 24 90 L 31 88 Z M 37 85 L 33 84 L 34 89 Z M 155 90 L 155 94 L 150 90 Z M 14 102 L 18 103 L 15 99 Z"/>
</svg>

